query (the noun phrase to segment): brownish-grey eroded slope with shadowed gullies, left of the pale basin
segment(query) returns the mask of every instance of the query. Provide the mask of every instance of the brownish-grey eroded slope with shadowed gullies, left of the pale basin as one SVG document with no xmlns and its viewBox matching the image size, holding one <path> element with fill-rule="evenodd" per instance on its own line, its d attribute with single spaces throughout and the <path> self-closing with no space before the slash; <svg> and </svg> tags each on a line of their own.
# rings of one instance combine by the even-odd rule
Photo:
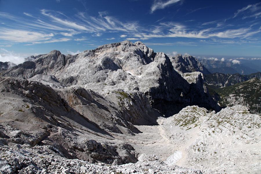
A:
<svg viewBox="0 0 261 174">
<path fill-rule="evenodd" d="M 138 107 L 144 108 L 143 112 L 158 113 L 149 107 L 148 101 L 142 103 L 137 94 L 132 94 L 136 96 L 135 102 L 140 103 L 135 110 L 79 86 L 54 90 L 36 81 L 12 77 L 0 77 L 0 81 L 2 146 L 50 145 L 53 151 L 69 159 L 110 164 L 136 162 L 137 154 L 131 145 L 120 140 L 103 141 L 114 139 L 110 133 L 139 132 L 131 124 L 142 119 L 132 113 L 142 112 Z M 144 124 L 155 124 L 143 120 Z"/>
</svg>

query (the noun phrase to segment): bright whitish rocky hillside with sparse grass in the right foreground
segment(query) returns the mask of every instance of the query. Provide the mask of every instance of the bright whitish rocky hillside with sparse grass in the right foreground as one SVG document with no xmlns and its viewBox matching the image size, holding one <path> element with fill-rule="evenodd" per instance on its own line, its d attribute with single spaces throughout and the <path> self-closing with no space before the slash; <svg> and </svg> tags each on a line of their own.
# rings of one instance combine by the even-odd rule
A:
<svg viewBox="0 0 261 174">
<path fill-rule="evenodd" d="M 182 152 L 177 165 L 221 173 L 259 172 L 260 125 L 260 115 L 250 114 L 242 105 L 218 113 L 187 106 L 162 122 L 164 135 Z"/>
</svg>

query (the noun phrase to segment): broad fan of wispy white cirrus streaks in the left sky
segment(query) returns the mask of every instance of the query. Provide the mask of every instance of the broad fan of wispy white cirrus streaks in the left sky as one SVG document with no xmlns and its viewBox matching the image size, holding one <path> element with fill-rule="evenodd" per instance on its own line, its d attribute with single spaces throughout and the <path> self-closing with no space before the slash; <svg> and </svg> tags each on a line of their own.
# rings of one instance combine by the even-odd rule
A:
<svg viewBox="0 0 261 174">
<path fill-rule="evenodd" d="M 31 14 L 23 14 L 33 17 Z M 59 38 L 59 35 L 74 37 L 80 33 L 94 33 L 92 36 L 101 36 L 101 32 L 136 32 L 139 26 L 137 22 L 121 22 L 117 19 L 107 16 L 105 12 L 99 12 L 98 17 L 85 16 L 84 13 L 78 13 L 74 18 L 67 17 L 61 12 L 51 10 L 40 10 L 41 17 L 34 17 L 34 20 L 14 16 L 9 13 L 0 12 L 0 18 L 9 19 L 14 26 L 19 29 L 0 28 L 0 39 L 12 42 L 28 42 L 26 45 L 37 43 L 51 43 L 56 41 L 68 41 L 68 39 Z M 22 29 L 23 28 L 23 29 Z M 56 30 L 56 31 L 54 31 Z M 50 31 L 53 31 L 50 33 Z M 57 32 L 58 31 L 58 32 Z M 72 38 L 73 39 L 73 38 Z M 110 38 L 111 39 L 111 38 Z M 75 38 L 75 41 L 83 41 L 85 38 Z"/>
</svg>

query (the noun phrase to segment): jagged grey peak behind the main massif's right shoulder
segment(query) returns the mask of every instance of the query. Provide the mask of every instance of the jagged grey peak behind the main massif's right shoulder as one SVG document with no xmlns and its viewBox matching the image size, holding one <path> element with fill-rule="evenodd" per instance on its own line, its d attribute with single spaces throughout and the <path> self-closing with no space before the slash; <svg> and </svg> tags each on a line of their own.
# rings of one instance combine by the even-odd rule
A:
<svg viewBox="0 0 261 174">
<path fill-rule="evenodd" d="M 195 71 L 201 72 L 203 74 L 210 74 L 210 72 L 205 68 L 204 65 L 200 63 L 197 58 L 190 56 L 178 54 L 170 58 L 174 69 L 179 73 L 192 73 Z"/>
</svg>

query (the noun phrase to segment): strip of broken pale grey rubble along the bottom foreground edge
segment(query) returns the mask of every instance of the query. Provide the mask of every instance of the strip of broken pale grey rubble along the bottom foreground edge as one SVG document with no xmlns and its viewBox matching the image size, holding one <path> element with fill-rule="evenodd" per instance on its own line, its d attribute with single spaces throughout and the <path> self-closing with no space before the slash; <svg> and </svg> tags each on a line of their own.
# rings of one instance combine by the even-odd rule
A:
<svg viewBox="0 0 261 174">
<path fill-rule="evenodd" d="M 91 164 L 79 159 L 69 160 L 55 153 L 52 146 L 0 146 L 0 172 L 13 173 L 170 173 L 205 174 L 190 168 L 169 166 L 155 155 L 142 154 L 137 163 L 108 166 L 104 163 Z M 214 173 L 214 172 L 208 172 Z"/>
</svg>

